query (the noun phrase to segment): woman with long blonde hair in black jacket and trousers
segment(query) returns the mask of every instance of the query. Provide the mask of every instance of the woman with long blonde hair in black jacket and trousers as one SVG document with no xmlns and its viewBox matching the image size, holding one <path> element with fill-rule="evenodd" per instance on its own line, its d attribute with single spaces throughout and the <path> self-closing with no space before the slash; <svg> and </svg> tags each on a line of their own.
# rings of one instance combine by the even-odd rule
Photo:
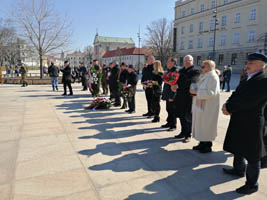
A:
<svg viewBox="0 0 267 200">
<path fill-rule="evenodd" d="M 163 69 L 161 62 L 156 60 L 153 65 L 153 72 L 152 72 L 152 83 L 149 83 L 149 87 L 153 89 L 153 96 L 152 96 L 152 107 L 154 110 L 154 119 L 152 120 L 153 123 L 159 122 L 160 117 L 160 98 L 162 94 L 162 82 L 163 82 Z"/>
</svg>

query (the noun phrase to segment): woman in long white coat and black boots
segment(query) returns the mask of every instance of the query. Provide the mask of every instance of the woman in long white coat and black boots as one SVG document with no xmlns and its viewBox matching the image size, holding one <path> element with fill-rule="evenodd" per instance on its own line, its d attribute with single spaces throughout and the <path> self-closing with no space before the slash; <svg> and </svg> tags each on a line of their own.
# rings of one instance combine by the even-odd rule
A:
<svg viewBox="0 0 267 200">
<path fill-rule="evenodd" d="M 217 123 L 220 110 L 220 80 L 212 60 L 202 62 L 202 74 L 198 83 L 192 85 L 190 93 L 193 98 L 193 137 L 199 141 L 194 150 L 200 153 L 211 152 L 212 141 L 217 136 Z"/>
</svg>

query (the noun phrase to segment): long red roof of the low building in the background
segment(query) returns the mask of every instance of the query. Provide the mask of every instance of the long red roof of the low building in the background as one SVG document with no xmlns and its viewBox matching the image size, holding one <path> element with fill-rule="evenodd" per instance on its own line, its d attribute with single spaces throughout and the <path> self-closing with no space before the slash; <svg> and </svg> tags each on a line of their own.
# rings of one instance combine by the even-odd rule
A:
<svg viewBox="0 0 267 200">
<path fill-rule="evenodd" d="M 106 51 L 103 55 L 103 58 L 109 58 L 109 57 L 115 57 L 115 56 L 127 56 L 127 55 L 151 55 L 152 50 L 146 49 L 146 48 L 123 48 L 123 49 L 117 49 L 113 51 Z"/>
</svg>

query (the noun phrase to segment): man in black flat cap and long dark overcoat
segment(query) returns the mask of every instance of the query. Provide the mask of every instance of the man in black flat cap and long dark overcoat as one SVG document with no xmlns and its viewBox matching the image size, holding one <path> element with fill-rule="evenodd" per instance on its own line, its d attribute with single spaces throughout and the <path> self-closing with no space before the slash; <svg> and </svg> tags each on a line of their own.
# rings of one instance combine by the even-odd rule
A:
<svg viewBox="0 0 267 200">
<path fill-rule="evenodd" d="M 239 84 L 222 108 L 225 115 L 231 115 L 223 148 L 234 154 L 233 168 L 223 170 L 239 177 L 246 174 L 246 184 L 236 190 L 241 194 L 258 191 L 261 159 L 266 156 L 263 141 L 267 103 L 267 76 L 263 73 L 265 63 L 267 58 L 262 54 L 248 56 L 248 78 Z"/>
</svg>

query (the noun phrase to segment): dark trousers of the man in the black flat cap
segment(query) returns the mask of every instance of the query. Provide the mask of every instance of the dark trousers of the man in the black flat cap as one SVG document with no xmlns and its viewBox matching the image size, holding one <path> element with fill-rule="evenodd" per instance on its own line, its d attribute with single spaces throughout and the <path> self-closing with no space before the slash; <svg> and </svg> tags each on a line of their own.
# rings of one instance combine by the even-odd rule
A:
<svg viewBox="0 0 267 200">
<path fill-rule="evenodd" d="M 234 155 L 234 169 L 240 172 L 246 172 L 246 185 L 258 186 L 258 179 L 260 176 L 261 162 L 248 161 L 246 165 L 245 158 L 239 155 Z"/>
</svg>

